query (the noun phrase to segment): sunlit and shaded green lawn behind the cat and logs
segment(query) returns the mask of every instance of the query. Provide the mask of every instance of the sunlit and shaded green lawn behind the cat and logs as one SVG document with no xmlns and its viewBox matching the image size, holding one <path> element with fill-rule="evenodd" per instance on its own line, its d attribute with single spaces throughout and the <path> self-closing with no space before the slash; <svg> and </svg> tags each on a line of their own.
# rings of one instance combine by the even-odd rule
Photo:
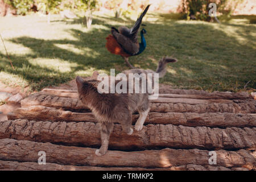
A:
<svg viewBox="0 0 256 182">
<path fill-rule="evenodd" d="M 40 90 L 77 75 L 90 76 L 96 70 L 109 74 L 110 68 L 116 73 L 129 69 L 120 56 L 107 51 L 105 38 L 110 27 L 131 26 L 135 18 L 96 14 L 90 30 L 82 26 L 82 19 L 62 20 L 59 15 L 52 16 L 51 24 L 38 15 L 1 18 L 5 26 L 0 33 L 15 70 L 0 43 L 0 81 Z M 147 48 L 131 57 L 130 63 L 155 70 L 164 55 L 179 60 L 168 66 L 160 82 L 210 92 L 256 88 L 256 25 L 249 20 L 217 24 L 148 13 L 143 23 L 147 25 Z"/>
</svg>

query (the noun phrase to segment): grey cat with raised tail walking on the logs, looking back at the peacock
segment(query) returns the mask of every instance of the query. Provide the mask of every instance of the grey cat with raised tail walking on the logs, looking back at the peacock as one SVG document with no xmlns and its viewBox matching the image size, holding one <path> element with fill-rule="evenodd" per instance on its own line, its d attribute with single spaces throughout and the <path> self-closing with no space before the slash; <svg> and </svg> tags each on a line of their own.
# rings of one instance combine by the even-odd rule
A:
<svg viewBox="0 0 256 182">
<path fill-rule="evenodd" d="M 163 57 L 159 61 L 156 72 L 143 69 L 131 69 L 124 71 L 126 75 L 129 73 L 159 73 L 159 77 L 163 77 L 166 73 L 166 64 L 175 63 L 177 60 L 170 57 Z M 142 130 L 143 123 L 150 110 L 150 100 L 147 93 L 98 93 L 97 86 L 100 81 L 97 81 L 98 73 L 94 72 L 92 80 L 83 80 L 81 77 L 76 77 L 76 83 L 79 93 L 79 98 L 83 104 L 88 106 L 94 113 L 98 122 L 101 123 L 101 147 L 96 150 L 96 155 L 101 156 L 108 151 L 109 136 L 113 130 L 114 123 L 121 123 L 123 131 L 128 135 L 133 134 L 131 125 L 131 116 L 134 111 L 139 112 L 139 119 L 135 124 L 134 129 Z M 116 81 L 118 82 L 118 81 Z M 127 86 L 128 88 L 128 86 Z"/>
</svg>

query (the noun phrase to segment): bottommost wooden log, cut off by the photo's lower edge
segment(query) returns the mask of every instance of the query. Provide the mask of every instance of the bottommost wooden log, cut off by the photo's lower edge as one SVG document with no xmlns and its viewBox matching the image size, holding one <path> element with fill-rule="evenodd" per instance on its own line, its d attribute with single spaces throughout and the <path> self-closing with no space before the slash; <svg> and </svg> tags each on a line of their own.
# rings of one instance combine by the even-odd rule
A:
<svg viewBox="0 0 256 182">
<path fill-rule="evenodd" d="M 138 168 L 138 167 L 93 167 L 74 166 L 46 163 L 39 165 L 36 162 L 16 162 L 0 160 L 1 171 L 248 171 L 247 168 L 227 168 L 222 166 L 200 166 L 188 164 L 183 166 L 172 166 L 168 168 Z"/>
</svg>

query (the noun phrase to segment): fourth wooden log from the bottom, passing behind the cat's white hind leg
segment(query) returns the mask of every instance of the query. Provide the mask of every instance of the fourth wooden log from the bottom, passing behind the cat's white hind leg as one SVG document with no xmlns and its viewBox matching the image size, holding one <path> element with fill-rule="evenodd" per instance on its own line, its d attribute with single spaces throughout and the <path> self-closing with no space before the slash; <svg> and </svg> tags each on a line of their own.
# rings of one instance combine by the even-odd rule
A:
<svg viewBox="0 0 256 182">
<path fill-rule="evenodd" d="M 54 107 L 19 107 L 7 115 L 8 119 L 30 119 L 34 121 L 97 122 L 93 113 L 73 113 Z M 139 115 L 133 114 L 133 124 Z M 256 127 L 256 114 L 233 113 L 149 113 L 146 124 L 172 124 L 208 127 Z"/>
</svg>

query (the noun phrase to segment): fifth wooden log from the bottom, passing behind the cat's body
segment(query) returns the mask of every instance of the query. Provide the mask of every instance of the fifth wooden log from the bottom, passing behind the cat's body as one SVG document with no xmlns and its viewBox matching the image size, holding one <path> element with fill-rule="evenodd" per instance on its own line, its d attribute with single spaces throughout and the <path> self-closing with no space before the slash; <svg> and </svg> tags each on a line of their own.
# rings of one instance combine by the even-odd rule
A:
<svg viewBox="0 0 256 182">
<path fill-rule="evenodd" d="M 174 99 L 175 100 L 175 99 Z M 200 100 L 199 100 L 200 101 Z M 201 100 L 202 101 L 202 100 Z M 175 101 L 174 101 L 175 102 Z M 22 107 L 32 105 L 42 105 L 47 107 L 55 107 L 57 109 L 65 109 L 71 111 L 90 111 L 81 101 L 75 98 L 57 97 L 49 95 L 41 95 L 38 93 L 31 94 L 20 102 Z M 182 104 L 182 103 L 152 103 L 151 111 L 156 112 L 221 112 L 221 113 L 256 113 L 256 101 L 251 100 L 242 103 L 232 104 Z"/>
</svg>

